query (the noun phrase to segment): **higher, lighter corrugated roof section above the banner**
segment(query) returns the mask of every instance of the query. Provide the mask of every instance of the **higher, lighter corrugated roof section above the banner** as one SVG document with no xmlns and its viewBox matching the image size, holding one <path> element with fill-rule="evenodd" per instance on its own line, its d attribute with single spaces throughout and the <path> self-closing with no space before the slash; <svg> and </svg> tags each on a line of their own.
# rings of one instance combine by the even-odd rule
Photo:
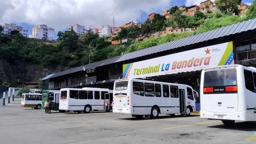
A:
<svg viewBox="0 0 256 144">
<path fill-rule="evenodd" d="M 256 19 L 255 18 L 246 20 L 243 22 L 239 22 L 236 24 L 232 24 L 229 26 L 225 26 L 222 28 L 217 28 L 215 30 L 210 30 L 208 32 L 203 32 L 201 34 L 196 34 L 193 36 L 189 36 L 186 38 L 168 42 L 166 44 L 160 44 L 157 47 L 153 46 L 150 48 L 146 48 L 147 50 L 143 49 L 143 50 L 138 50 L 136 52 L 124 54 L 122 57 L 120 57 L 118 60 L 116 60 L 116 62 L 122 62 L 124 60 L 130 60 L 133 58 L 146 56 L 149 54 L 154 54 L 157 52 L 170 50 L 170 49 L 174 49 L 174 48 L 180 48 L 183 46 L 188 46 L 190 44 L 196 44 L 198 42 L 203 42 L 203 41 L 211 40 L 214 38 L 221 38 L 221 37 L 228 36 L 231 34 L 236 34 L 236 33 L 245 32 L 245 31 L 254 30 L 254 29 L 256 29 Z"/>
</svg>

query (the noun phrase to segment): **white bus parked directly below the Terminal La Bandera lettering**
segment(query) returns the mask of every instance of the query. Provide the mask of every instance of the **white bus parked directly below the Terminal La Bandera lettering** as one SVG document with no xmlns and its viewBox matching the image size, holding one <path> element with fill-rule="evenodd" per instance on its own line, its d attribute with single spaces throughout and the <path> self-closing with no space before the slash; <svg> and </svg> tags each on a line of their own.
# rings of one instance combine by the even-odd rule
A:
<svg viewBox="0 0 256 144">
<path fill-rule="evenodd" d="M 197 94 L 188 85 L 139 79 L 115 80 L 113 92 L 113 112 L 137 118 L 157 118 L 159 114 L 188 116 L 195 110 Z"/>
</svg>

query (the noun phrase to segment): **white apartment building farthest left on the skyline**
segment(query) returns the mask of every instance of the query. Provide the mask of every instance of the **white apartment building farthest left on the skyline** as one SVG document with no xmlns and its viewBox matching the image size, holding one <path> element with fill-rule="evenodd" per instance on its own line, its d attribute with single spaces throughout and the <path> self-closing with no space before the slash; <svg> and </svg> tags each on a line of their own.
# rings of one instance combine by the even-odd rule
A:
<svg viewBox="0 0 256 144">
<path fill-rule="evenodd" d="M 22 34 L 23 36 L 25 36 L 27 38 L 29 36 L 28 30 L 24 30 L 21 26 L 16 26 L 16 24 L 13 24 L 13 23 L 11 23 L 11 24 L 4 24 L 3 28 L 4 29 L 3 29 L 2 33 L 4 33 L 4 34 L 10 34 L 10 32 L 12 30 L 18 30 L 20 32 L 20 34 Z"/>
</svg>

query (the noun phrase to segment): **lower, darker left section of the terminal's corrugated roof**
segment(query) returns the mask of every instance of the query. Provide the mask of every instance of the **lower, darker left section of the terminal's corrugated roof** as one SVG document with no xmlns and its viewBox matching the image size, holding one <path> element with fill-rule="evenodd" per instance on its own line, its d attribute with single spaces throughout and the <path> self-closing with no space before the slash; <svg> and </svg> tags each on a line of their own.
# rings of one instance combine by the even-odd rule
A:
<svg viewBox="0 0 256 144">
<path fill-rule="evenodd" d="M 113 58 L 109 58 L 109 59 L 106 59 L 106 60 L 101 60 L 101 61 L 98 61 L 98 62 L 93 62 L 91 64 L 86 64 L 84 66 L 78 66 L 76 68 L 71 68 L 69 70 L 64 70 L 64 71 L 61 71 L 61 72 L 57 72 L 54 75 L 50 76 L 50 78 L 55 78 L 55 77 L 58 77 L 58 76 L 63 76 L 63 75 L 71 74 L 71 73 L 74 73 L 74 72 L 79 72 L 79 71 L 82 71 L 83 68 L 85 68 L 87 70 L 89 68 L 96 68 L 96 67 L 99 67 L 99 66 L 104 66 L 104 65 L 107 65 L 107 64 L 112 64 L 112 63 L 116 62 L 116 60 L 118 58 L 120 58 L 120 57 L 121 57 L 121 55 L 120 56 L 115 56 Z"/>
</svg>

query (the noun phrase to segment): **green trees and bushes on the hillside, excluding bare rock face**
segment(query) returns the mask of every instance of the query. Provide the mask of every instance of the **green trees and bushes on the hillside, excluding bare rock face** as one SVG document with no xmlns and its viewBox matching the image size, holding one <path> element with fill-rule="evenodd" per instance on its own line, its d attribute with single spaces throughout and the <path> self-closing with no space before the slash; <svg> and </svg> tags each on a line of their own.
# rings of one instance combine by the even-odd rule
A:
<svg viewBox="0 0 256 144">
<path fill-rule="evenodd" d="M 216 4 L 222 4 L 225 0 L 216 0 Z M 10 35 L 0 33 L 0 59 L 15 64 L 16 61 L 23 61 L 29 64 L 44 66 L 45 68 L 55 68 L 61 66 L 72 68 L 111 58 L 120 55 L 122 52 L 134 52 L 158 44 L 164 44 L 180 38 L 192 36 L 227 26 L 248 18 L 256 18 L 256 1 L 246 13 L 248 17 L 232 16 L 230 12 L 235 12 L 231 3 L 232 0 L 226 0 L 227 7 L 222 8 L 222 12 L 203 14 L 196 11 L 194 16 L 184 16 L 177 6 L 170 8 L 172 16 L 166 19 L 160 14 L 156 14 L 152 22 L 146 20 L 142 28 L 130 26 L 122 28 L 118 36 L 113 39 L 100 37 L 94 34 L 92 30 L 88 31 L 85 37 L 80 37 L 74 31 L 58 32 L 58 40 L 54 43 L 36 42 L 34 39 L 25 38 L 19 32 L 12 31 Z M 230 2 L 230 3 L 228 3 Z M 237 4 L 239 0 L 235 0 Z M 206 6 L 207 8 L 207 6 Z M 220 7 L 219 7 L 220 8 Z M 149 37 L 147 40 L 135 41 L 135 38 L 141 35 L 152 34 L 165 30 L 167 26 L 172 28 L 197 26 L 197 30 L 183 32 L 181 34 L 167 34 L 160 38 Z M 0 31 L 2 27 L 0 26 Z M 127 44 L 111 45 L 111 40 L 130 38 L 131 42 Z"/>
</svg>

